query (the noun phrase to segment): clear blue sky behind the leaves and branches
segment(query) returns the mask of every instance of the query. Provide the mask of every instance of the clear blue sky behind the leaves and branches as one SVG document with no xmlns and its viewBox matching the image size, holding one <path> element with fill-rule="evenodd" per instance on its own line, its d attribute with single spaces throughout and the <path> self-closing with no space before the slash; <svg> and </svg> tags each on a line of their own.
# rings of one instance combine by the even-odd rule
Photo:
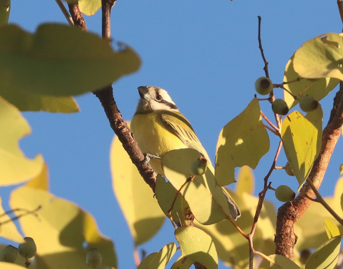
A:
<svg viewBox="0 0 343 269">
<path fill-rule="evenodd" d="M 142 60 L 138 72 L 113 84 L 123 118 L 132 118 L 138 86 L 162 87 L 191 122 L 214 161 L 220 130 L 244 110 L 255 94 L 255 80 L 264 75 L 257 40 L 258 15 L 262 17 L 262 44 L 274 83 L 283 81 L 288 59 L 303 42 L 342 30 L 336 1 L 118 0 L 112 10 L 112 37 L 133 47 Z M 88 30 L 100 35 L 101 12 L 85 20 Z M 33 32 L 41 23 L 66 20 L 53 0 L 12 1 L 10 22 Z M 320 102 L 324 126 L 335 92 Z M 282 98 L 283 93 L 276 89 L 275 95 Z M 76 100 L 80 113 L 23 113 L 32 135 L 20 145 L 29 157 L 43 154 L 53 194 L 92 213 L 100 231 L 115 243 L 118 268 L 134 268 L 133 243 L 111 187 L 108 156 L 113 131 L 93 94 Z M 273 119 L 270 107 L 268 102 L 261 103 L 262 110 Z M 255 170 L 256 193 L 262 190 L 277 147 L 278 140 L 272 134 L 270 137 L 271 153 Z M 324 196 L 333 193 L 332 184 L 343 162 L 342 149 L 340 138 L 320 188 Z M 282 154 L 277 164 L 285 163 Z M 296 180 L 281 172 L 275 171 L 270 178 L 274 187 L 287 184 L 295 190 Z M 4 188 L 3 192 L 7 191 Z M 267 199 L 275 201 L 274 194 L 269 192 Z M 276 208 L 282 204 L 275 202 Z M 158 238 L 143 248 L 151 253 L 173 240 L 173 227 L 165 222 Z"/>
</svg>

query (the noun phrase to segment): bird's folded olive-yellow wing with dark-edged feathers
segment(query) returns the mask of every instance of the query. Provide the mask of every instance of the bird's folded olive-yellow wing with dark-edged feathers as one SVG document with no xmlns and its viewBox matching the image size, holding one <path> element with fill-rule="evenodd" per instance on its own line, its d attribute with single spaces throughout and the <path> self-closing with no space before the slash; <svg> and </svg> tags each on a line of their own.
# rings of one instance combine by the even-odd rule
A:
<svg viewBox="0 0 343 269">
<path fill-rule="evenodd" d="M 191 124 L 180 112 L 163 110 L 159 117 L 171 133 L 180 138 L 187 147 L 198 150 L 212 166 L 210 157 L 201 145 Z"/>
</svg>

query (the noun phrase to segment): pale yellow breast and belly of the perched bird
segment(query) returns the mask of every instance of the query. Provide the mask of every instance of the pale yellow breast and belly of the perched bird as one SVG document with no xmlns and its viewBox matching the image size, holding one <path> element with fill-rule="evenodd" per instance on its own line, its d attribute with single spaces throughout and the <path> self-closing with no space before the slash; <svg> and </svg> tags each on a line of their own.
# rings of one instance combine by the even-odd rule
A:
<svg viewBox="0 0 343 269">
<path fill-rule="evenodd" d="M 131 121 L 131 130 L 143 153 L 159 157 L 173 149 L 187 148 L 187 146 L 161 121 L 157 112 L 135 114 Z M 163 174 L 161 161 L 150 161 L 156 173 Z"/>
</svg>

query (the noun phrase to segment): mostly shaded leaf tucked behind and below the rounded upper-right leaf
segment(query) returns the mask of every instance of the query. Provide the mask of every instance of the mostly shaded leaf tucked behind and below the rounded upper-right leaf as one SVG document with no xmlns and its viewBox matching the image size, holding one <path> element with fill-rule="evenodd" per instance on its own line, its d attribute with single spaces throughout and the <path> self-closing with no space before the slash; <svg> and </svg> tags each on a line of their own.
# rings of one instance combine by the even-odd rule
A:
<svg viewBox="0 0 343 269">
<path fill-rule="evenodd" d="M 284 82 L 294 81 L 299 77 L 298 73 L 294 71 L 293 59 L 294 55 L 286 64 L 285 74 L 283 78 Z M 299 102 L 301 97 L 305 95 L 310 95 L 317 101 L 320 101 L 325 96 L 327 96 L 327 94 L 330 93 L 330 91 L 334 87 L 336 87 L 339 82 L 339 79 L 330 77 L 323 77 L 318 79 L 300 78 L 300 81 L 284 85 L 284 87 L 288 91 L 290 91 L 297 97 L 297 99 L 294 99 L 294 97 L 287 93 L 287 91 L 284 91 L 285 102 L 287 103 L 289 109 L 291 109 Z"/>
</svg>

